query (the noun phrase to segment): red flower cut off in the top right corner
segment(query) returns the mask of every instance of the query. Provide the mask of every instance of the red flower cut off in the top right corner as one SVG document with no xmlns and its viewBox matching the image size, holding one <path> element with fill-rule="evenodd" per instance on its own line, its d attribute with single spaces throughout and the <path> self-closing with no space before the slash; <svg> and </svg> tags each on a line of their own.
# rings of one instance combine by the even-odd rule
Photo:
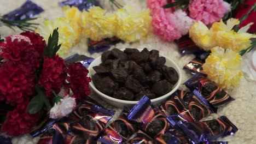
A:
<svg viewBox="0 0 256 144">
<path fill-rule="evenodd" d="M 253 4 L 255 3 L 255 0 L 247 0 L 245 1 L 245 5 L 239 4 L 237 6 L 237 11 L 236 11 L 236 18 L 237 19 L 241 19 L 242 16 L 244 16 L 247 11 L 249 9 L 251 9 L 251 7 L 253 6 Z M 250 22 L 254 22 L 252 26 L 250 26 L 250 28 L 248 29 L 248 32 L 256 32 L 256 11 L 251 11 L 251 13 L 249 13 L 248 17 L 242 21 L 240 28 L 246 26 L 248 23 Z"/>
</svg>

